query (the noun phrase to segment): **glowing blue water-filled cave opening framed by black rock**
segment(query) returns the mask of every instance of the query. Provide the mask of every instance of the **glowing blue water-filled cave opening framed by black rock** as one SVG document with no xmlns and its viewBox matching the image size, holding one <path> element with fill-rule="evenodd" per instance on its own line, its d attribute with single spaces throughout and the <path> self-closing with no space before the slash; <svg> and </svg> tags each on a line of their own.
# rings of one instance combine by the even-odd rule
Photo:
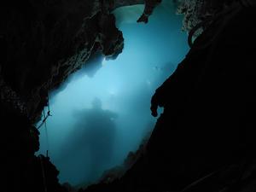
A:
<svg viewBox="0 0 256 192">
<path fill-rule="evenodd" d="M 95 55 L 50 93 L 53 116 L 47 131 L 40 128 L 38 154 L 49 151 L 61 183 L 96 182 L 152 131 L 151 96 L 189 49 L 175 11 L 171 1 L 163 1 L 144 25 L 136 22 L 142 5 L 116 9 L 123 52 L 115 60 Z"/>
</svg>

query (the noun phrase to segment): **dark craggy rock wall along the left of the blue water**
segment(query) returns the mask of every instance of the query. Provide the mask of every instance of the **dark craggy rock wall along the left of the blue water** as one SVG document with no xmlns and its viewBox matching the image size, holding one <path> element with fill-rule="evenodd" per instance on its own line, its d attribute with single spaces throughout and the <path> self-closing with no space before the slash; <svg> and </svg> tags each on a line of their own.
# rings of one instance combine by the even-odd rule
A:
<svg viewBox="0 0 256 192">
<path fill-rule="evenodd" d="M 34 153 L 39 148 L 33 124 L 48 102 L 48 91 L 94 53 L 119 55 L 124 39 L 110 12 L 137 3 L 143 1 L 10 0 L 1 4 L 1 191 L 45 191 L 44 185 L 37 184 L 44 180 L 42 167 L 32 166 L 38 165 Z M 45 183 L 47 191 L 62 191 L 51 166 L 44 167 L 52 178 Z"/>
</svg>

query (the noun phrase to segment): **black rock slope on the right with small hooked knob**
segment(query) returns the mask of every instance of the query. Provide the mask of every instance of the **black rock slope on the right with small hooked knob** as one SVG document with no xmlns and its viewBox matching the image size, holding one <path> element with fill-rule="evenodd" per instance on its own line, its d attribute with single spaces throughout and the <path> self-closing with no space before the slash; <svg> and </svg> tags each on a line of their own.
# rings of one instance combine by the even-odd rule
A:
<svg viewBox="0 0 256 192">
<path fill-rule="evenodd" d="M 156 90 L 152 109 L 165 111 L 146 153 L 84 191 L 255 191 L 255 13 L 239 7 L 212 22 Z"/>
</svg>

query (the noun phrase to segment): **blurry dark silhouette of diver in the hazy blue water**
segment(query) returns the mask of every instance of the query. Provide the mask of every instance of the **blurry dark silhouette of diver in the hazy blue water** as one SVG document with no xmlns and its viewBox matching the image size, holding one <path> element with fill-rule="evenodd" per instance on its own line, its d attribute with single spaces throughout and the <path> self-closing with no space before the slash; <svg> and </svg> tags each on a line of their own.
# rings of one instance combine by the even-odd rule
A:
<svg viewBox="0 0 256 192">
<path fill-rule="evenodd" d="M 73 138 L 66 150 L 69 156 L 67 158 L 76 156 L 82 164 L 84 161 L 84 179 L 95 181 L 111 164 L 116 131 L 114 119 L 118 115 L 102 109 L 102 102 L 98 98 L 91 104 L 92 108 L 74 113 L 77 122 L 71 134 Z M 74 159 L 73 161 L 76 161 Z M 77 169 L 81 167 L 77 166 Z"/>
</svg>

